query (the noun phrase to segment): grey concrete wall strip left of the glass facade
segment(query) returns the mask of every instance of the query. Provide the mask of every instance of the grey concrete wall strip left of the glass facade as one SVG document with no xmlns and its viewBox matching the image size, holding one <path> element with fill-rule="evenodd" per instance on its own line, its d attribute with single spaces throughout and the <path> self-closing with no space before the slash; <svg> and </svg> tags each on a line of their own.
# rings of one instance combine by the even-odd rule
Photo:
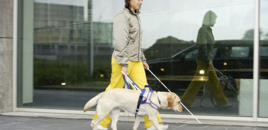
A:
<svg viewBox="0 0 268 130">
<path fill-rule="evenodd" d="M 0 113 L 4 113 L 12 111 L 13 1 L 0 3 Z"/>
</svg>

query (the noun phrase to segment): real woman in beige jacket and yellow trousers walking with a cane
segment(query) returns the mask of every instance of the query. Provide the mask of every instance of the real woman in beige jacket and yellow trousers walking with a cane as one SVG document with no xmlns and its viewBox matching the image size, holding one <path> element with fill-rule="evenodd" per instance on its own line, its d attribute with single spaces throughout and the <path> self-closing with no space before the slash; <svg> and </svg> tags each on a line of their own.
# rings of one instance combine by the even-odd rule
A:
<svg viewBox="0 0 268 130">
<path fill-rule="evenodd" d="M 113 35 L 116 44 L 112 55 L 111 83 L 106 91 L 124 87 L 121 70 L 128 74 L 140 88 L 144 88 L 144 85 L 148 84 L 144 68 L 149 69 L 149 66 L 141 49 L 142 29 L 139 17 L 141 5 L 142 0 L 125 0 L 125 8 L 114 18 Z M 92 122 L 97 118 L 96 113 Z M 144 116 L 144 119 L 146 129 L 155 129 L 148 116 Z M 157 119 L 161 123 L 159 113 Z M 107 116 L 99 123 L 97 128 L 108 129 L 110 122 L 111 118 Z M 162 129 L 168 128 L 168 125 L 160 125 Z"/>
</svg>

